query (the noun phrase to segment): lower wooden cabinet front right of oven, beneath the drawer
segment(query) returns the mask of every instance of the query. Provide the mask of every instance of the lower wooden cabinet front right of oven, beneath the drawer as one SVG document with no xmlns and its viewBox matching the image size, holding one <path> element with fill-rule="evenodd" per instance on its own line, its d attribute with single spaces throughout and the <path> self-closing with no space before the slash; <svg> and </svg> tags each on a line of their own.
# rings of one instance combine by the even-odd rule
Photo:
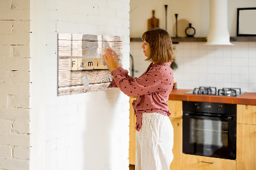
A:
<svg viewBox="0 0 256 170">
<path fill-rule="evenodd" d="M 237 124 L 237 170 L 256 169 L 256 125 Z"/>
</svg>

